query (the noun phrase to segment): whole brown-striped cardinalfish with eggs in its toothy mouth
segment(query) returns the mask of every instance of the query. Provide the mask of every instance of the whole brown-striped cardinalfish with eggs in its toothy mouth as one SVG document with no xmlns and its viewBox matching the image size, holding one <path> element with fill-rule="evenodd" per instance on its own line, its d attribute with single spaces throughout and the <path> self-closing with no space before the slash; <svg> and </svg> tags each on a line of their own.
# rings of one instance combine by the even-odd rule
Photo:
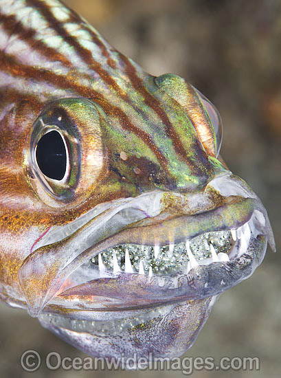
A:
<svg viewBox="0 0 281 378">
<path fill-rule="evenodd" d="M 181 355 L 275 249 L 218 111 L 58 0 L 0 0 L 0 34 L 1 300 L 92 356 Z"/>
</svg>

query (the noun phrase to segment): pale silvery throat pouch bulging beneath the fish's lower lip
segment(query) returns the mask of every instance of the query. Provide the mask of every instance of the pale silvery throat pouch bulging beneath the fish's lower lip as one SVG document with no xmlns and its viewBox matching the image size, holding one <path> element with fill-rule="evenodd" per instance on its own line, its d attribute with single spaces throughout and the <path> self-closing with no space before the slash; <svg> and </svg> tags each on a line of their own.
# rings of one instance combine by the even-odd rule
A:
<svg viewBox="0 0 281 378">
<path fill-rule="evenodd" d="M 216 297 L 143 309 L 123 319 L 78 321 L 41 314 L 46 329 L 92 357 L 175 357 L 196 340 Z"/>
</svg>

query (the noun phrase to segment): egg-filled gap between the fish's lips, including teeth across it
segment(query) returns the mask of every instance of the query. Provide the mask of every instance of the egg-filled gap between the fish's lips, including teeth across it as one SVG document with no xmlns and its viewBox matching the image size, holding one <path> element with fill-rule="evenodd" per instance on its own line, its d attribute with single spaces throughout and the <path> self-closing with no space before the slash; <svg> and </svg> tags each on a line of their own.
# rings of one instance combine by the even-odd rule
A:
<svg viewBox="0 0 281 378">
<path fill-rule="evenodd" d="M 175 275 L 191 269 L 194 263 L 204 260 L 229 260 L 229 252 L 234 245 L 233 232 L 205 232 L 187 243 L 164 246 L 136 244 L 116 245 L 91 258 L 91 263 L 100 270 L 109 269 L 117 273 Z M 193 258 L 192 258 L 193 256 Z M 207 262 L 207 260 L 206 260 Z"/>
</svg>

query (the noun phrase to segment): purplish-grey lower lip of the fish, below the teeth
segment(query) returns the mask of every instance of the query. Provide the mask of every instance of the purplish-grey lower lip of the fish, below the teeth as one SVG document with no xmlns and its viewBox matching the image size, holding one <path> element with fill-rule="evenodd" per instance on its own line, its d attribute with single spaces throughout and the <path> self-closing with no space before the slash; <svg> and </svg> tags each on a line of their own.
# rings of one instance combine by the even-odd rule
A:
<svg viewBox="0 0 281 378">
<path fill-rule="evenodd" d="M 54 298 L 45 307 L 43 316 L 52 314 L 47 315 L 49 318 L 45 320 L 81 324 L 79 326 L 87 330 L 88 324 L 122 322 L 124 318 L 139 318 L 139 314 L 150 313 L 151 309 L 168 304 L 205 300 L 251 276 L 262 262 L 266 247 L 265 236 L 252 237 L 247 252 L 229 262 L 201 265 L 191 269 L 188 275 L 176 278 L 155 276 L 150 279 L 139 274 L 121 273 L 115 278 L 93 280 L 88 289 L 94 296 L 79 296 L 74 287 Z M 175 282 L 177 285 L 174 285 Z M 85 285 L 81 285 L 80 289 L 85 294 Z M 112 324 L 109 324 L 111 329 Z"/>
</svg>

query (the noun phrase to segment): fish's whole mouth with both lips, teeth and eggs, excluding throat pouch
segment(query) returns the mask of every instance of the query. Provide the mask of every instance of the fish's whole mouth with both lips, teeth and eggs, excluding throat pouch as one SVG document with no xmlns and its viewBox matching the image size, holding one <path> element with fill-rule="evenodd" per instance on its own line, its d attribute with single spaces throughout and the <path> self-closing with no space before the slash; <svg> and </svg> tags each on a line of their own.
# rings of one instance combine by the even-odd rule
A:
<svg viewBox="0 0 281 378">
<path fill-rule="evenodd" d="M 265 208 L 241 192 L 210 210 L 176 216 L 163 216 L 163 192 L 149 193 L 51 230 L 19 274 L 31 315 L 124 312 L 236 285 L 262 262 L 267 238 L 273 244 Z"/>
</svg>

